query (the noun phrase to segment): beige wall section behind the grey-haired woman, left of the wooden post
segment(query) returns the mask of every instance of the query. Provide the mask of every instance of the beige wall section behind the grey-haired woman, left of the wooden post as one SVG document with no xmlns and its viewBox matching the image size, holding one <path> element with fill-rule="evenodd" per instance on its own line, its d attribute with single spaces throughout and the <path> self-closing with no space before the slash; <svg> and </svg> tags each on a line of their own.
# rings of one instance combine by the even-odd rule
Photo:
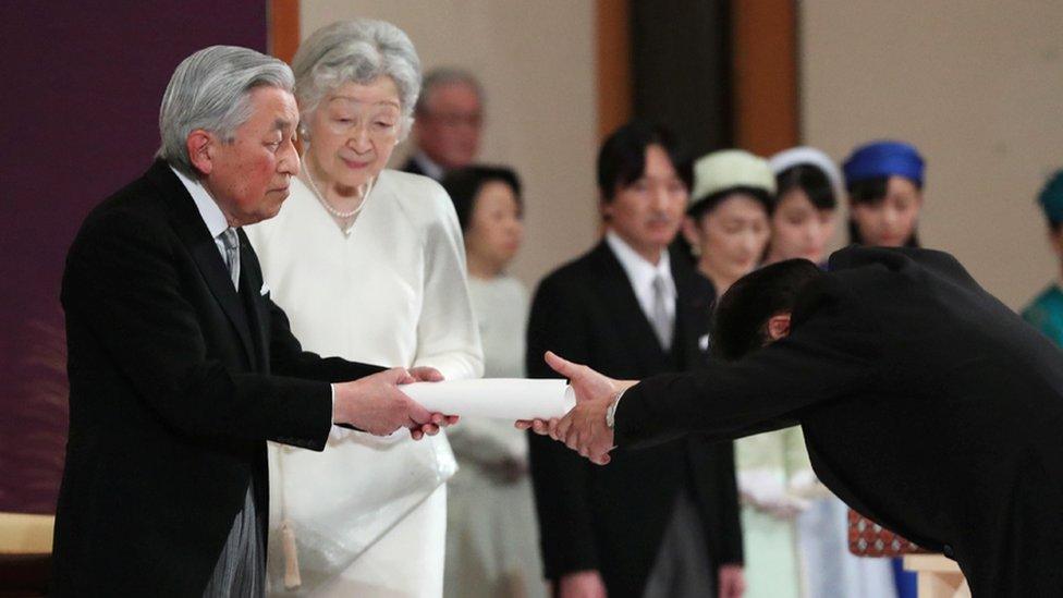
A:
<svg viewBox="0 0 1063 598">
<path fill-rule="evenodd" d="M 301 4 L 304 39 L 340 19 L 383 19 L 410 35 L 426 70 L 460 65 L 481 78 L 488 121 L 480 158 L 513 166 L 525 183 L 527 236 L 512 268 L 516 276 L 532 285 L 594 243 L 597 111 L 591 2 L 303 0 Z M 396 157 L 404 152 L 400 147 Z"/>
</svg>

